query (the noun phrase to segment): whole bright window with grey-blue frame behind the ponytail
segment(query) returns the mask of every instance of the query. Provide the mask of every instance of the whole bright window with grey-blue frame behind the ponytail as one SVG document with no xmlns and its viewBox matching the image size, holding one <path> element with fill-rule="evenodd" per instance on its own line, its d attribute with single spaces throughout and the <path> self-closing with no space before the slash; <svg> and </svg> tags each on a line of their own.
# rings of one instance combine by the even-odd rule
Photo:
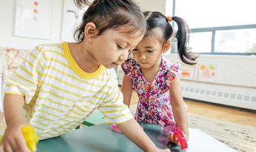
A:
<svg viewBox="0 0 256 152">
<path fill-rule="evenodd" d="M 256 54 L 255 0 L 166 0 L 166 4 L 170 3 L 175 16 L 189 24 L 188 46 L 193 52 Z M 172 47 L 172 52 L 177 48 Z"/>
</svg>

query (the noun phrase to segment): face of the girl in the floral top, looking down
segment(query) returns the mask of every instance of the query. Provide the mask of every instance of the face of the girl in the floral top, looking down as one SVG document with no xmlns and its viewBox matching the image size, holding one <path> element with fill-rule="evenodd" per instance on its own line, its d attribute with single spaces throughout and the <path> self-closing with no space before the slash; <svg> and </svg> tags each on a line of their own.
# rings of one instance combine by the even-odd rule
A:
<svg viewBox="0 0 256 152">
<path fill-rule="evenodd" d="M 168 46 L 170 47 L 170 43 Z M 132 50 L 133 59 L 142 68 L 155 67 L 161 63 L 161 54 L 166 52 L 169 47 L 166 48 L 156 36 L 145 36 L 137 47 Z"/>
</svg>

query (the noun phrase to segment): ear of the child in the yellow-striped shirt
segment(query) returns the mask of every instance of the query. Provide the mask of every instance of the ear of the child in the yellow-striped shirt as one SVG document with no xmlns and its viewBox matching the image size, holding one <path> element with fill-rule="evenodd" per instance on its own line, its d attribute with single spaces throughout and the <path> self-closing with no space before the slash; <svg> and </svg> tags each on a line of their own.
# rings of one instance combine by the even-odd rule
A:
<svg viewBox="0 0 256 152">
<path fill-rule="evenodd" d="M 99 30 L 97 29 L 95 24 L 93 22 L 88 22 L 84 27 L 84 38 L 90 41 L 97 36 L 98 32 Z"/>
</svg>

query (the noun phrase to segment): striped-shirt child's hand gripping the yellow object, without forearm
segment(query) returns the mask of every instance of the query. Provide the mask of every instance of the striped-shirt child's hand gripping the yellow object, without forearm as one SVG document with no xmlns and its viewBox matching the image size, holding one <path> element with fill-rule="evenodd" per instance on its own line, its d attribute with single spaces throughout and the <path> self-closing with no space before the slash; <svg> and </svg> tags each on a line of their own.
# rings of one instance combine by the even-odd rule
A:
<svg viewBox="0 0 256 152">
<path fill-rule="evenodd" d="M 1 142 L 1 150 L 4 152 L 22 151 L 30 152 L 21 132 L 21 127 L 29 125 L 28 121 L 16 121 L 9 124 L 5 130 Z"/>
</svg>

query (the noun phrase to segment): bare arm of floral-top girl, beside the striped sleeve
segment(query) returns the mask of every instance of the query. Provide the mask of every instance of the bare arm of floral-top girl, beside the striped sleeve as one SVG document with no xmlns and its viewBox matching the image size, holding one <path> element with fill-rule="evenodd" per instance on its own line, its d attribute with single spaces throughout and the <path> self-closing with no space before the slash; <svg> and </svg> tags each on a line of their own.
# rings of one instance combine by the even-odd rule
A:
<svg viewBox="0 0 256 152">
<path fill-rule="evenodd" d="M 132 96 L 132 80 L 124 75 L 121 91 L 124 95 L 124 103 L 130 107 L 131 96 Z"/>
</svg>

